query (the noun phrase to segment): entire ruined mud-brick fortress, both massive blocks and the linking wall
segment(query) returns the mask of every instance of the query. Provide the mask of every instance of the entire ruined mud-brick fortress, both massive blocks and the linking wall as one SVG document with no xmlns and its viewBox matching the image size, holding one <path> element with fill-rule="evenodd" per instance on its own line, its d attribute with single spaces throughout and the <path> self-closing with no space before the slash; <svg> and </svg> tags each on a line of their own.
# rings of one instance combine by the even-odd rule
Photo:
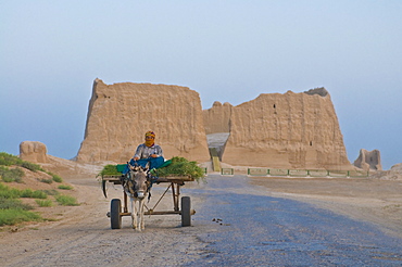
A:
<svg viewBox="0 0 402 267">
<path fill-rule="evenodd" d="M 210 160 L 206 134 L 229 132 L 222 162 L 269 168 L 352 169 L 329 93 L 263 93 L 202 111 L 186 87 L 96 79 L 77 161 L 124 163 L 147 130 L 166 158 Z"/>
</svg>

